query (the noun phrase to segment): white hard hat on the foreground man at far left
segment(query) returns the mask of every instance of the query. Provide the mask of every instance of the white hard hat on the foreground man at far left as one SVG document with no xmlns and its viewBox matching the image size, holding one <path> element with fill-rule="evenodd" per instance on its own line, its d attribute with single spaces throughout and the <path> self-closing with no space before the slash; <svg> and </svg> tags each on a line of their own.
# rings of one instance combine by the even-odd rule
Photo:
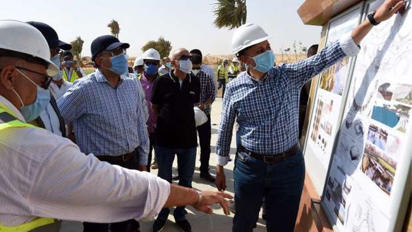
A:
<svg viewBox="0 0 412 232">
<path fill-rule="evenodd" d="M 50 60 L 46 39 L 36 27 L 15 20 L 0 20 L 0 34 L 0 49 L 25 53 L 46 61 L 49 63 L 49 76 L 55 76 L 59 71 Z"/>
</svg>

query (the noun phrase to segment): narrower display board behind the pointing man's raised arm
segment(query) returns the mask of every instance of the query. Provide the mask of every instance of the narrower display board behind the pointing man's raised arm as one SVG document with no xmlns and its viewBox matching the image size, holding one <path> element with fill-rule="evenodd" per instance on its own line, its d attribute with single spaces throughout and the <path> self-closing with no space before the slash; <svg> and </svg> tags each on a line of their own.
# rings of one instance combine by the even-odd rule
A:
<svg viewBox="0 0 412 232">
<path fill-rule="evenodd" d="M 359 25 L 362 17 L 362 6 L 363 3 L 331 20 L 328 26 L 326 45 L 351 33 Z M 308 169 L 309 177 L 319 195 L 323 191 L 336 131 L 342 118 L 352 62 L 352 58 L 345 57 L 320 74 L 304 151 L 306 164 L 310 167 Z"/>
</svg>

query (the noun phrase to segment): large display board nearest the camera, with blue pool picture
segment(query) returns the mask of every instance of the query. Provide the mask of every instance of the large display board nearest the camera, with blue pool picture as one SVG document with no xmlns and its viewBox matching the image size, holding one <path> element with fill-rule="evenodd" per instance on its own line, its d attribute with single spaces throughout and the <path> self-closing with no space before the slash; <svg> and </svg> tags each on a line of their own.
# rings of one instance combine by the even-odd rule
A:
<svg viewBox="0 0 412 232">
<path fill-rule="evenodd" d="M 368 1 L 365 14 L 383 0 Z M 361 42 L 322 206 L 339 232 L 394 230 L 411 166 L 412 14 Z"/>
</svg>

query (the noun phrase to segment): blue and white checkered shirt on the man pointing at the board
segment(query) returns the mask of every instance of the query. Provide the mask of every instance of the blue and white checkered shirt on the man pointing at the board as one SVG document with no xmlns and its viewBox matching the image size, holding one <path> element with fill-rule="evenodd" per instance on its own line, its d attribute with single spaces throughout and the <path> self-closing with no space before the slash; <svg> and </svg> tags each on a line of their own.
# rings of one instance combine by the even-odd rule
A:
<svg viewBox="0 0 412 232">
<path fill-rule="evenodd" d="M 246 149 L 264 155 L 290 149 L 298 142 L 302 86 L 346 55 L 358 54 L 359 50 L 347 35 L 308 59 L 272 68 L 260 81 L 243 72 L 229 82 L 216 146 L 218 164 L 228 163 L 235 119 L 241 144 Z"/>
</svg>

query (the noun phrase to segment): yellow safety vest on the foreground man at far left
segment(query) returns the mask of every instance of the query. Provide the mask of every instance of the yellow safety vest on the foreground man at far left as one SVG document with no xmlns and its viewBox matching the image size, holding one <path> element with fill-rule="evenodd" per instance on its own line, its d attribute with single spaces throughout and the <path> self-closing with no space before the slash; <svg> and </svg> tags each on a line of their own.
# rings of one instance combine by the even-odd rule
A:
<svg viewBox="0 0 412 232">
<path fill-rule="evenodd" d="M 0 133 L 1 130 L 7 129 L 7 128 L 32 128 L 35 127 L 31 124 L 27 124 L 25 122 L 22 122 L 18 120 L 14 114 L 12 113 L 11 110 L 7 109 L 4 105 L 0 104 Z M 49 224 L 54 223 L 54 219 L 52 218 L 36 218 L 30 222 L 27 222 L 25 224 L 21 224 L 18 226 L 12 226 L 12 227 L 6 227 L 1 225 L 0 223 L 0 232 L 29 232 L 31 230 L 34 230 L 36 228 L 46 226 Z"/>
</svg>

